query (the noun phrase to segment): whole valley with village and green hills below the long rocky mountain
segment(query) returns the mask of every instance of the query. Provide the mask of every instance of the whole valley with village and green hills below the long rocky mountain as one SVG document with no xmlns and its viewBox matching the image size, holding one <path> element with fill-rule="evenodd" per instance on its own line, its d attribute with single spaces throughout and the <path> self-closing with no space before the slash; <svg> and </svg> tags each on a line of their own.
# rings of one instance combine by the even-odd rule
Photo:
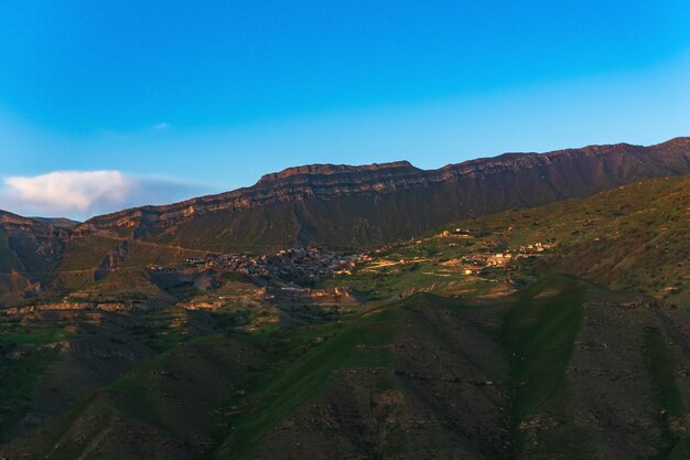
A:
<svg viewBox="0 0 690 460">
<path fill-rule="evenodd" d="M 0 456 L 687 458 L 690 176 L 546 201 L 343 246 L 317 201 L 265 246 L 7 214 Z"/>
</svg>

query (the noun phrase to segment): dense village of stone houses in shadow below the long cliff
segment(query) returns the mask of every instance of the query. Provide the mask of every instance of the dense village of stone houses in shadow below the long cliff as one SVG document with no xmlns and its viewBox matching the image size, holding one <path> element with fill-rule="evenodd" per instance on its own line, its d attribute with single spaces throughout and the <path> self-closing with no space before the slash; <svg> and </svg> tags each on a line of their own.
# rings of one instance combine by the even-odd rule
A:
<svg viewBox="0 0 690 460">
<path fill-rule="evenodd" d="M 368 254 L 341 255 L 319 248 L 294 248 L 262 256 L 242 254 L 188 258 L 185 263 L 195 267 L 220 267 L 251 278 L 280 279 L 309 285 L 333 274 L 349 274 L 356 265 L 369 260 Z"/>
</svg>

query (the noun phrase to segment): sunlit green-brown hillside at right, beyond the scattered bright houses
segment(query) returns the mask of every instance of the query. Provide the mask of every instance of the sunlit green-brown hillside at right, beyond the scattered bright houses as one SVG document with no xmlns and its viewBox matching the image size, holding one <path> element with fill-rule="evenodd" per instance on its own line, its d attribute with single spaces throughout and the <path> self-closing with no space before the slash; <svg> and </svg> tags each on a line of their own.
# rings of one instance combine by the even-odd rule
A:
<svg viewBox="0 0 690 460">
<path fill-rule="evenodd" d="M 456 226 L 498 248 L 556 245 L 533 264 L 524 264 L 527 271 L 569 272 L 690 307 L 689 175 L 635 182 Z"/>
</svg>

